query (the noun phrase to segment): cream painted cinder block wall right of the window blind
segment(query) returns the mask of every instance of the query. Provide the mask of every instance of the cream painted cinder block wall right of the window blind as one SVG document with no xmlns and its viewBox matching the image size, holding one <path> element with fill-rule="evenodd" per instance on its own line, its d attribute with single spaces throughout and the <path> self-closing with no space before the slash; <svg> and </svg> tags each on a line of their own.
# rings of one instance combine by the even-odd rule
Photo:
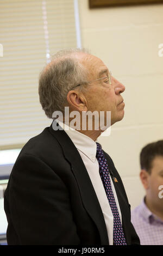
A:
<svg viewBox="0 0 163 256">
<path fill-rule="evenodd" d="M 99 142 L 114 160 L 133 209 L 145 194 L 140 150 L 163 139 L 163 4 L 89 9 L 88 2 L 79 0 L 82 46 L 126 86 L 124 119 Z"/>
</svg>

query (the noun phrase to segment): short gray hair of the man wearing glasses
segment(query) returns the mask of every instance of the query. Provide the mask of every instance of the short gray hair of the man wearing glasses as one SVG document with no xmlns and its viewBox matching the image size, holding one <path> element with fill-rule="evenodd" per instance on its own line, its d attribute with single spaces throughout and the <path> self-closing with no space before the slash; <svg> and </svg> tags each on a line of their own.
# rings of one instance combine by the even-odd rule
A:
<svg viewBox="0 0 163 256">
<path fill-rule="evenodd" d="M 75 57 L 76 52 L 89 54 L 87 50 L 79 48 L 59 51 L 40 73 L 40 103 L 48 118 L 52 118 L 54 111 L 64 114 L 65 106 L 68 106 L 67 93 L 87 81 L 87 70 Z M 76 89 L 86 91 L 84 86 Z"/>
</svg>

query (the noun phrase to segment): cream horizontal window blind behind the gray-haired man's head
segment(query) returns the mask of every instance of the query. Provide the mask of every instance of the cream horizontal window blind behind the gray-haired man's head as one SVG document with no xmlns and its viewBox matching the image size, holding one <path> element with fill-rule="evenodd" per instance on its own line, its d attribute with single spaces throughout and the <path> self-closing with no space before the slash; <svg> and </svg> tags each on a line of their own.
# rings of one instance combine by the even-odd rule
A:
<svg viewBox="0 0 163 256">
<path fill-rule="evenodd" d="M 77 47 L 73 0 L 1 0 L 0 149 L 21 148 L 51 125 L 38 80 L 50 56 Z"/>
</svg>

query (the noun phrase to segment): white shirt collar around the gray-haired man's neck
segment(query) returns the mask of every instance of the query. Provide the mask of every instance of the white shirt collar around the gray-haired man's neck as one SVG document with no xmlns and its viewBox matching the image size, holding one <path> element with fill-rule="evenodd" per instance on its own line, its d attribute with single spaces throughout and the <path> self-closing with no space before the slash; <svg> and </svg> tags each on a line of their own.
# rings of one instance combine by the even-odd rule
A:
<svg viewBox="0 0 163 256">
<path fill-rule="evenodd" d="M 96 160 L 96 150 L 97 145 L 96 142 L 93 141 L 90 137 L 84 135 L 77 130 L 74 130 L 72 127 L 62 123 L 60 120 L 55 119 L 57 123 L 62 127 L 62 129 L 67 133 L 67 135 L 71 138 L 72 142 L 76 146 L 76 148 L 82 151 L 92 162 Z"/>
</svg>

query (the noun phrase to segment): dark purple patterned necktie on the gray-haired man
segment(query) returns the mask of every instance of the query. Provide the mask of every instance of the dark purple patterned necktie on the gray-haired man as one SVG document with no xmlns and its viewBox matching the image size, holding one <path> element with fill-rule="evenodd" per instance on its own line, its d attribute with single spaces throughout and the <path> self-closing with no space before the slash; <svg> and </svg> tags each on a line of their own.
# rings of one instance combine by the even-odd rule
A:
<svg viewBox="0 0 163 256">
<path fill-rule="evenodd" d="M 102 179 L 102 182 L 103 182 L 103 185 L 105 188 L 106 196 L 108 197 L 112 215 L 114 216 L 114 223 L 113 223 L 114 245 L 127 245 L 126 239 L 125 239 L 124 233 L 123 233 L 120 215 L 118 213 L 114 194 L 113 194 L 112 188 L 111 188 L 108 163 L 106 162 L 101 145 L 97 142 L 96 142 L 96 144 L 97 144 L 96 158 L 99 163 L 99 174 L 101 176 L 101 179 Z"/>
</svg>

